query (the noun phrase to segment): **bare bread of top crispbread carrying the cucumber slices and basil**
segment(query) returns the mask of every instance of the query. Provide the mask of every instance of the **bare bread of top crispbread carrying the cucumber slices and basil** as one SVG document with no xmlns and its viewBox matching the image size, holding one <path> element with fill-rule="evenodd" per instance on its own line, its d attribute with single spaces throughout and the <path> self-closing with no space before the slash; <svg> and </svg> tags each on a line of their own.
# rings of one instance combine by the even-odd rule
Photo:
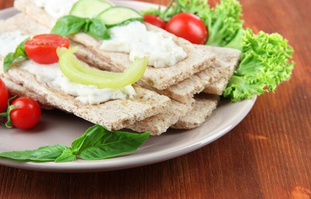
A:
<svg viewBox="0 0 311 199">
<path fill-rule="evenodd" d="M 55 20 L 53 20 L 44 9 L 36 7 L 31 0 L 17 0 L 15 1 L 14 6 L 32 16 L 39 23 L 47 25 L 50 28 L 55 24 Z M 187 52 L 188 56 L 183 61 L 167 68 L 154 68 L 149 66 L 144 77 L 139 81 L 140 85 L 163 90 L 213 65 L 215 56 L 208 50 L 195 48 L 190 42 L 178 38 L 151 24 L 146 23 L 146 27 L 150 31 L 161 32 L 164 37 L 172 37 L 173 41 L 178 46 L 182 47 Z M 78 33 L 69 37 L 73 41 L 83 44 L 90 50 L 94 51 L 101 56 L 105 62 L 117 68 L 119 72 L 123 71 L 131 63 L 127 53 L 100 50 L 100 41 L 85 33 Z"/>
</svg>

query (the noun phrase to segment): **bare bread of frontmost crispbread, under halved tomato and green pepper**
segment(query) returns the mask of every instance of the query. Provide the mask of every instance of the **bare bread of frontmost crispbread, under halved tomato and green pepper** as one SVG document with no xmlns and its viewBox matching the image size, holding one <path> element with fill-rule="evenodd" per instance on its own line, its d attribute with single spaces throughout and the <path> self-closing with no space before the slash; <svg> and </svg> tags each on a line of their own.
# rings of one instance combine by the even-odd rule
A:
<svg viewBox="0 0 311 199">
<path fill-rule="evenodd" d="M 36 28 L 36 34 L 46 33 L 46 28 L 42 26 L 41 29 L 40 25 L 25 20 L 23 14 L 17 14 L 5 21 L 0 20 L 0 32 L 20 30 L 24 34 L 32 34 L 34 27 Z M 3 79 L 9 80 L 18 86 L 9 84 L 8 90 L 10 92 L 18 90 L 22 86 L 25 89 L 24 92 L 33 92 L 37 97 L 39 96 L 37 99 L 33 94 L 29 94 L 33 95 L 32 97 L 42 104 L 74 113 L 87 121 L 103 125 L 109 130 L 118 130 L 133 124 L 137 120 L 151 117 L 162 112 L 170 104 L 169 98 L 135 86 L 137 95 L 133 99 L 111 100 L 99 105 L 85 105 L 77 101 L 73 96 L 39 83 L 34 75 L 16 66 L 12 66 L 4 74 L 3 58 L 0 57 L 0 77 L 4 77 Z M 22 90 L 18 91 L 22 92 Z M 149 96 L 148 99 L 145 98 L 146 95 Z M 28 95 L 25 94 L 24 96 Z"/>
</svg>

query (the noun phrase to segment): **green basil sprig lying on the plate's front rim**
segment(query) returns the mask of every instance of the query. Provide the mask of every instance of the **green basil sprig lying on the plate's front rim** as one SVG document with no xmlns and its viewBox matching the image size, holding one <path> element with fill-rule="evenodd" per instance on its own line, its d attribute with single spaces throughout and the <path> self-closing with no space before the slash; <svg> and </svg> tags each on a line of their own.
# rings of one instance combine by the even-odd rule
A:
<svg viewBox="0 0 311 199">
<path fill-rule="evenodd" d="M 69 148 L 64 145 L 40 147 L 35 150 L 0 152 L 0 157 L 24 161 L 74 161 L 105 159 L 137 150 L 150 136 L 150 132 L 135 134 L 109 131 L 96 124 L 89 128 Z"/>
</svg>

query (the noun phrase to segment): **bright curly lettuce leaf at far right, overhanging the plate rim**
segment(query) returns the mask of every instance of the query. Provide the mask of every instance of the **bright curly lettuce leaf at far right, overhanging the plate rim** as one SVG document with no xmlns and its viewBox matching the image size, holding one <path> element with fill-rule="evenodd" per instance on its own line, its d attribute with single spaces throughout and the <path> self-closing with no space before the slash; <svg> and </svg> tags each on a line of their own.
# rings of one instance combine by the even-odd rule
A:
<svg viewBox="0 0 311 199">
<path fill-rule="evenodd" d="M 291 78 L 294 52 L 280 34 L 244 31 L 241 62 L 223 95 L 233 102 L 274 91 Z"/>
</svg>

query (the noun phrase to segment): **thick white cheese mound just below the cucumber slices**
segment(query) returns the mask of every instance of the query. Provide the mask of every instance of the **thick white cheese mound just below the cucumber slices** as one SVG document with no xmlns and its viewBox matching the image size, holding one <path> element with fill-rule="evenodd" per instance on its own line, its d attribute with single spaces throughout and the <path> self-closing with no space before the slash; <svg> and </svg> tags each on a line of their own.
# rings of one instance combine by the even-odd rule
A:
<svg viewBox="0 0 311 199">
<path fill-rule="evenodd" d="M 129 53 L 130 60 L 148 56 L 148 65 L 164 68 L 182 61 L 187 53 L 160 32 L 148 31 L 146 25 L 136 21 L 109 29 L 111 40 L 103 40 L 100 49 Z"/>
</svg>

